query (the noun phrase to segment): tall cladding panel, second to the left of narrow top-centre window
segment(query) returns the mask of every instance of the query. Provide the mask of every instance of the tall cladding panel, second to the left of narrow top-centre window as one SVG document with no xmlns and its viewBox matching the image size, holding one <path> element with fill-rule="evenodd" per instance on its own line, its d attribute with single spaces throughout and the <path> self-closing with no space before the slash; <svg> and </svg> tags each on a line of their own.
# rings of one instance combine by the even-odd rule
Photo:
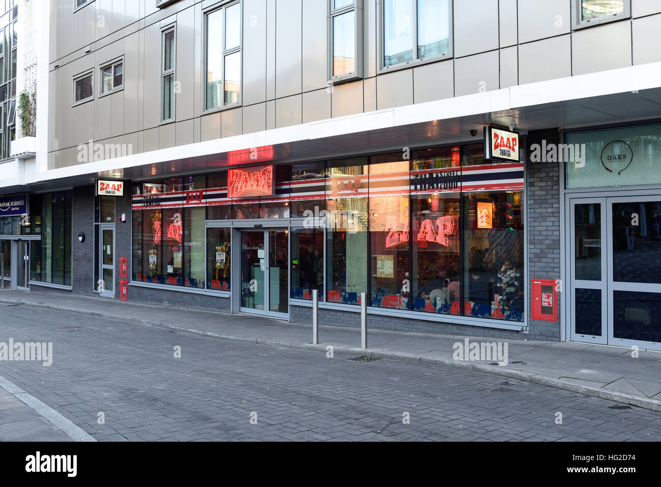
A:
<svg viewBox="0 0 661 487">
<path fill-rule="evenodd" d="M 301 0 L 276 0 L 276 98 L 301 93 L 301 28 Z"/>
</svg>

